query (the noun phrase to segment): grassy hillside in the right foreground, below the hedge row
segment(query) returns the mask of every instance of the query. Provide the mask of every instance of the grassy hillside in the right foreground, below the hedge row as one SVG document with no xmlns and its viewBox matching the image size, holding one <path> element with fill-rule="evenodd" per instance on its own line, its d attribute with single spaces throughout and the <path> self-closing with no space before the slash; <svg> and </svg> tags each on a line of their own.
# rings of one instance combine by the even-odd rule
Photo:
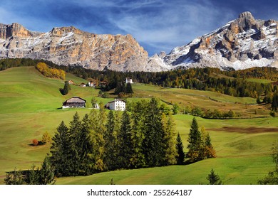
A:
<svg viewBox="0 0 278 199">
<path fill-rule="evenodd" d="M 184 146 L 192 116 L 175 115 L 177 131 Z M 210 132 L 217 158 L 186 166 L 167 166 L 137 170 L 97 173 L 86 177 L 58 178 L 57 184 L 206 184 L 214 170 L 225 184 L 257 184 L 257 180 L 272 171 L 271 147 L 278 139 L 278 119 L 201 119 L 200 126 Z M 234 131 L 233 128 L 238 128 Z M 254 129 L 252 129 L 254 128 Z M 185 149 L 186 151 L 186 149 Z"/>
</svg>

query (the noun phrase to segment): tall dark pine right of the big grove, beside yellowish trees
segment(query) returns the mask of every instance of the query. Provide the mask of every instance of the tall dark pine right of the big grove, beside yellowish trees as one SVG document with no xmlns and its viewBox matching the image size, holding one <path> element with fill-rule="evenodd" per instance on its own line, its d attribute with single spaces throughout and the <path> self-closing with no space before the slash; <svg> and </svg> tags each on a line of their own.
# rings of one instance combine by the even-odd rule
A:
<svg viewBox="0 0 278 199">
<path fill-rule="evenodd" d="M 187 155 L 191 162 L 200 161 L 202 159 L 202 136 L 199 131 L 197 120 L 195 117 L 192 119 L 190 133 L 188 136 Z"/>
</svg>

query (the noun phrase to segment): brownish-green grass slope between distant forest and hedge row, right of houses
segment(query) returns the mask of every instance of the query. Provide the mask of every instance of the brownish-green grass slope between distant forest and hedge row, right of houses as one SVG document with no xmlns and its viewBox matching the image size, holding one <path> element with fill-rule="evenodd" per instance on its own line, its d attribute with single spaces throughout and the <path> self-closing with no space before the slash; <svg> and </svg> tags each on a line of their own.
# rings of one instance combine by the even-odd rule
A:
<svg viewBox="0 0 278 199">
<path fill-rule="evenodd" d="M 232 97 L 217 92 L 164 88 L 153 85 L 134 84 L 134 97 L 160 97 L 165 102 L 177 103 L 180 107 L 200 107 L 220 109 L 228 112 L 232 109 L 238 117 L 269 117 L 267 106 L 257 104 L 251 97 Z"/>
</svg>

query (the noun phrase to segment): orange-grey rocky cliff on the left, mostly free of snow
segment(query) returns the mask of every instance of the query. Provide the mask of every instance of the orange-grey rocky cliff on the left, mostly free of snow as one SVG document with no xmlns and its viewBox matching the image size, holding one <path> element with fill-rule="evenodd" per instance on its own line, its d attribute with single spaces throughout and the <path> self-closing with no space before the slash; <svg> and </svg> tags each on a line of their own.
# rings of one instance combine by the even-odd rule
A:
<svg viewBox="0 0 278 199">
<path fill-rule="evenodd" d="M 77 28 L 28 31 L 18 23 L 0 24 L 0 58 L 46 59 L 95 70 L 147 70 L 148 53 L 130 36 L 96 35 Z"/>
</svg>

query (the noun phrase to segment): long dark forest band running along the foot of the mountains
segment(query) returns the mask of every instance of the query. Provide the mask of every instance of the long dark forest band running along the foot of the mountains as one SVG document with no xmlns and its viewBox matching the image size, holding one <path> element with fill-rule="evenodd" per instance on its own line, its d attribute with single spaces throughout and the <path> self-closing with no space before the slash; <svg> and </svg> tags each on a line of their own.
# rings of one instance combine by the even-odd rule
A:
<svg viewBox="0 0 278 199">
<path fill-rule="evenodd" d="M 207 90 L 220 92 L 235 97 L 271 97 L 278 90 L 277 85 L 248 82 L 249 77 L 278 80 L 276 68 L 249 68 L 246 70 L 222 71 L 219 68 L 190 68 L 187 70 L 170 70 L 167 72 L 117 72 L 112 70 L 89 70 L 79 65 L 56 65 L 46 60 L 31 59 L 3 59 L 0 60 L 0 70 L 21 65 L 36 65 L 39 62 L 46 63 L 51 68 L 57 68 L 70 72 L 78 77 L 88 79 L 91 77 L 99 81 L 108 82 L 106 90 L 118 87 L 126 77 L 135 82 L 160 85 L 163 87 L 178 87 L 194 90 Z M 117 89 L 117 90 L 118 90 Z M 270 102 L 271 103 L 271 102 Z"/>
</svg>

